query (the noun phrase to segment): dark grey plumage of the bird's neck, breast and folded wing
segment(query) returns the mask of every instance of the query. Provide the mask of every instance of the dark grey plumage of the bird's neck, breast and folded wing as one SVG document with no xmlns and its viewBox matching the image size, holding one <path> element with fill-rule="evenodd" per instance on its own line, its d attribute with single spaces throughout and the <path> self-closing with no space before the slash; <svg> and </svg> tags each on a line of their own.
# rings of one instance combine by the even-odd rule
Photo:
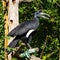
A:
<svg viewBox="0 0 60 60">
<path fill-rule="evenodd" d="M 33 20 L 23 22 L 19 24 L 16 28 L 14 28 L 8 35 L 9 36 L 21 36 L 27 33 L 29 30 L 34 29 L 36 30 L 39 26 L 39 20 L 34 18 Z"/>
</svg>

